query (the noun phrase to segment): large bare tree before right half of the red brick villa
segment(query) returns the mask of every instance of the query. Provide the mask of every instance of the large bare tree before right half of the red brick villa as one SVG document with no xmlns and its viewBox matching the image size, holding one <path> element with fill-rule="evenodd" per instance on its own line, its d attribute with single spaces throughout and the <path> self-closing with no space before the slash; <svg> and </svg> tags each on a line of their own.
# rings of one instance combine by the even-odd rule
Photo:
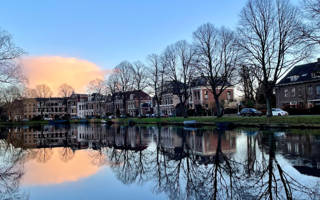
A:
<svg viewBox="0 0 320 200">
<path fill-rule="evenodd" d="M 215 28 L 206 23 L 193 32 L 193 41 L 197 48 L 198 64 L 208 84 L 206 88 L 213 94 L 217 108 L 217 117 L 221 117 L 220 95 L 230 86 L 239 83 L 238 51 L 234 42 L 234 32 L 222 26 Z"/>
</svg>

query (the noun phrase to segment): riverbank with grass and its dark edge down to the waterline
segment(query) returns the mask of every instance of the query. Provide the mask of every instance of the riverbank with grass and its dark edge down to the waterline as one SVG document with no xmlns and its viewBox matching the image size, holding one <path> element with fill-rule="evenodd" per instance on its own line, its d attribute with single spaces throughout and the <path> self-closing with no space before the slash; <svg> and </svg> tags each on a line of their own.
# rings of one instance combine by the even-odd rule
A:
<svg viewBox="0 0 320 200">
<path fill-rule="evenodd" d="M 119 119 L 127 122 L 132 119 L 136 123 L 183 123 L 183 121 L 196 120 L 203 125 L 214 125 L 215 122 L 233 122 L 237 126 L 268 126 L 268 127 L 292 127 L 292 128 L 320 128 L 320 116 L 283 116 L 283 117 L 188 117 L 188 118 L 128 118 Z"/>
</svg>

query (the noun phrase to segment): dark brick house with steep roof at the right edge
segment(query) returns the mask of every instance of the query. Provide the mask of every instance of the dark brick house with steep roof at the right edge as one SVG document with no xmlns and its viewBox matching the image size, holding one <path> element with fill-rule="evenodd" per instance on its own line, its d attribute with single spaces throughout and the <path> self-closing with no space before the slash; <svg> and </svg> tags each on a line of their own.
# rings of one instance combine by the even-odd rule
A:
<svg viewBox="0 0 320 200">
<path fill-rule="evenodd" d="M 302 104 L 320 105 L 320 58 L 317 62 L 297 65 L 276 85 L 276 107 Z"/>
</svg>

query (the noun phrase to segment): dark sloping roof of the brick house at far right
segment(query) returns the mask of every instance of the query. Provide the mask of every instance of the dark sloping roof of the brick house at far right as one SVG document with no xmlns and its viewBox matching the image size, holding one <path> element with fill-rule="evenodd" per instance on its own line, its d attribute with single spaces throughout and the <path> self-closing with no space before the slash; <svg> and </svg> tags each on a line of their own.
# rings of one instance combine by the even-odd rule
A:
<svg viewBox="0 0 320 200">
<path fill-rule="evenodd" d="M 320 63 L 317 63 L 317 62 L 311 62 L 311 63 L 307 63 L 307 64 L 303 64 L 303 65 L 294 66 L 288 72 L 288 74 L 286 74 L 286 76 L 283 79 L 281 79 L 281 81 L 279 81 L 277 83 L 277 85 L 320 80 L 320 77 L 312 78 L 312 74 L 311 74 L 311 72 L 319 71 L 319 70 L 320 70 Z M 288 78 L 288 77 L 290 77 L 292 75 L 304 75 L 304 74 L 306 74 L 306 75 L 305 76 L 299 76 L 294 81 L 291 81 L 291 79 Z"/>
</svg>

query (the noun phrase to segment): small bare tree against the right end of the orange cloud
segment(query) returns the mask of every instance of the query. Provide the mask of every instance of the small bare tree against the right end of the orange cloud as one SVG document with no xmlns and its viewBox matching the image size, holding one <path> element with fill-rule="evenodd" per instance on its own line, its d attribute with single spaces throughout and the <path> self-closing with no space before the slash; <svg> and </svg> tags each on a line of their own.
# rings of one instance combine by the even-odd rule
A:
<svg viewBox="0 0 320 200">
<path fill-rule="evenodd" d="M 101 78 L 96 78 L 92 81 L 90 81 L 89 85 L 88 85 L 88 91 L 90 92 L 95 92 L 96 93 L 96 100 L 98 101 L 98 105 L 99 105 L 99 110 L 100 110 L 100 119 L 102 119 L 102 111 L 101 111 L 101 107 L 104 104 L 103 98 L 105 98 L 105 81 Z"/>
</svg>

